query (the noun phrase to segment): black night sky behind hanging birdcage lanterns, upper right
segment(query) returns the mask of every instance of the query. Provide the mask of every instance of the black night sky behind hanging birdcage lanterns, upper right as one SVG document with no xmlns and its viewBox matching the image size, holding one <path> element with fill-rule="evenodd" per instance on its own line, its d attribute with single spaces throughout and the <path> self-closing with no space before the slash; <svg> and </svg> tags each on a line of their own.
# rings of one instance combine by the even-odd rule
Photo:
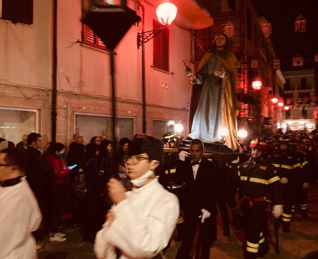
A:
<svg viewBox="0 0 318 259">
<path fill-rule="evenodd" d="M 252 0 L 259 16 L 272 24 L 273 42 L 281 70 L 318 68 L 315 53 L 318 53 L 318 0 Z M 306 32 L 295 32 L 299 15 L 307 20 Z M 299 53 L 304 57 L 304 66 L 293 67 L 292 59 Z"/>
</svg>

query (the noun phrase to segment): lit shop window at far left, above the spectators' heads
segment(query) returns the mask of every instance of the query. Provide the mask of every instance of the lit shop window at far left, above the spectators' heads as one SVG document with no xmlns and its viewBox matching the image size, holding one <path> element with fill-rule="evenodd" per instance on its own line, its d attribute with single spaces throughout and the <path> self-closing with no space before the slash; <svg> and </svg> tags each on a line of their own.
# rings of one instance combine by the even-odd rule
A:
<svg viewBox="0 0 318 259">
<path fill-rule="evenodd" d="M 38 110 L 0 107 L 0 137 L 17 144 L 23 134 L 38 133 Z"/>
</svg>

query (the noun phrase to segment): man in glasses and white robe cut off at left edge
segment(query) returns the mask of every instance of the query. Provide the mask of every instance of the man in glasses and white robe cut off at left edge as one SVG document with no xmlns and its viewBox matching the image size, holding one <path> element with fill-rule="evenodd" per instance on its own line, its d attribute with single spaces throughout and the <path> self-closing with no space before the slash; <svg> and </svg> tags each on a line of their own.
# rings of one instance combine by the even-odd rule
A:
<svg viewBox="0 0 318 259">
<path fill-rule="evenodd" d="M 42 215 L 26 181 L 24 152 L 15 148 L 0 151 L 0 258 L 37 258 L 32 231 Z"/>
</svg>

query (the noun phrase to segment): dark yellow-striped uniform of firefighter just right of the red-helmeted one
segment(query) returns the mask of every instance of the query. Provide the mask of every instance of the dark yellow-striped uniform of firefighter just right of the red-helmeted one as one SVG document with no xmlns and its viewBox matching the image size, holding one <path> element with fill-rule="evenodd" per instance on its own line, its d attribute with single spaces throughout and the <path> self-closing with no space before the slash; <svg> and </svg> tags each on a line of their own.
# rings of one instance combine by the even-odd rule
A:
<svg viewBox="0 0 318 259">
<path fill-rule="evenodd" d="M 301 161 L 290 150 L 275 150 L 271 155 L 271 162 L 276 168 L 280 178 L 287 178 L 288 183 L 282 184 L 284 213 L 282 214 L 283 231 L 289 232 L 292 220 L 292 210 L 295 203 L 297 172 L 301 167 Z"/>
</svg>

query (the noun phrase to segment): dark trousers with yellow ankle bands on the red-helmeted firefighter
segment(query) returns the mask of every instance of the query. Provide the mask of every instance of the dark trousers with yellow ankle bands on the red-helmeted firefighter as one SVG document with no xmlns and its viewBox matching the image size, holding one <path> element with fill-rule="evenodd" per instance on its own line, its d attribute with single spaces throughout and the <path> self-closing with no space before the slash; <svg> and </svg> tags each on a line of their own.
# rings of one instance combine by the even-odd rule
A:
<svg viewBox="0 0 318 259">
<path fill-rule="evenodd" d="M 251 207 L 249 200 L 242 202 L 242 212 L 245 220 L 245 258 L 257 258 L 259 249 L 267 246 L 263 233 L 266 232 L 266 202 L 254 201 Z"/>
</svg>

